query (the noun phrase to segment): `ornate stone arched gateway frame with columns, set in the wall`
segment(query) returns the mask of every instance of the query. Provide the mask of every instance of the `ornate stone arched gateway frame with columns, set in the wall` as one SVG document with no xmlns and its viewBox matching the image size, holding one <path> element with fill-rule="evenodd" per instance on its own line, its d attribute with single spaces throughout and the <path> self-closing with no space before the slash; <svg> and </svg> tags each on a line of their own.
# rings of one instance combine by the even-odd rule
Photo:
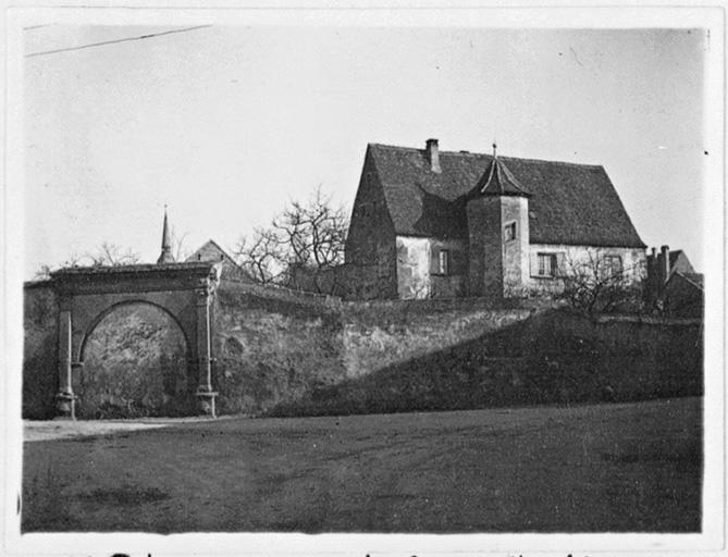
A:
<svg viewBox="0 0 728 557">
<path fill-rule="evenodd" d="M 195 261 L 69 268 L 52 273 L 59 296 L 58 411 L 75 419 L 73 373 L 83 366 L 84 345 L 96 324 L 119 305 L 147 302 L 164 310 L 180 325 L 189 362 L 197 368 L 198 408 L 214 417 L 210 305 L 220 271 L 219 262 Z"/>
</svg>

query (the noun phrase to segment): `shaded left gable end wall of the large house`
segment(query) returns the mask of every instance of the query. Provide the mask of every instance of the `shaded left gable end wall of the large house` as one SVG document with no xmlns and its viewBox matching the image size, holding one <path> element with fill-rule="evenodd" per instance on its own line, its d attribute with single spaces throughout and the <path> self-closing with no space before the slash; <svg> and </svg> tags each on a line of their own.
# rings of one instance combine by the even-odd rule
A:
<svg viewBox="0 0 728 557">
<path fill-rule="evenodd" d="M 346 237 L 346 297 L 397 297 L 395 233 L 374 162 L 365 157 Z"/>
</svg>

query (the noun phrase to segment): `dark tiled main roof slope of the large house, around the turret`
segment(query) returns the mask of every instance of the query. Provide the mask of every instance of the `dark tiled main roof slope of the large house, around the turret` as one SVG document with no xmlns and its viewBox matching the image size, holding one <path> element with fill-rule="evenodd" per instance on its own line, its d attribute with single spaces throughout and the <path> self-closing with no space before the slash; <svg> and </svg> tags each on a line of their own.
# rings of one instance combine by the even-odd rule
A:
<svg viewBox="0 0 728 557">
<path fill-rule="evenodd" d="M 465 199 L 493 157 L 440 152 L 434 173 L 423 149 L 370 144 L 397 234 L 466 238 Z M 531 244 L 643 248 L 604 168 L 498 157 L 532 197 Z"/>
</svg>

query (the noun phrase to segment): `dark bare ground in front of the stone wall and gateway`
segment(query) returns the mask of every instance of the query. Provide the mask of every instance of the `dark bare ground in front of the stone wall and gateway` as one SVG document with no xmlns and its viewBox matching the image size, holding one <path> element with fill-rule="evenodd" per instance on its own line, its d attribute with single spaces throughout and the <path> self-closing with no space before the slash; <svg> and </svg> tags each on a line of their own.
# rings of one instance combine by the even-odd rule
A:
<svg viewBox="0 0 728 557">
<path fill-rule="evenodd" d="M 701 528 L 700 398 L 140 425 L 28 424 L 23 531 Z"/>
</svg>

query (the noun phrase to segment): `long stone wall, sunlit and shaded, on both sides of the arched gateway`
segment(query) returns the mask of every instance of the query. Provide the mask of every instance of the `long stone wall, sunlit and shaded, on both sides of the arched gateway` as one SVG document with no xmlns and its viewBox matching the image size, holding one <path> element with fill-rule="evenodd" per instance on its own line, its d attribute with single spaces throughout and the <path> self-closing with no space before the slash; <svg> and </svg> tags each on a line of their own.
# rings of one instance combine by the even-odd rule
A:
<svg viewBox="0 0 728 557">
<path fill-rule="evenodd" d="M 23 413 L 49 418 L 57 300 L 26 288 Z M 505 304 L 511 304 L 507 307 Z M 485 298 L 345 302 L 223 281 L 221 413 L 353 413 L 702 393 L 700 321 L 587 319 Z"/>
</svg>

